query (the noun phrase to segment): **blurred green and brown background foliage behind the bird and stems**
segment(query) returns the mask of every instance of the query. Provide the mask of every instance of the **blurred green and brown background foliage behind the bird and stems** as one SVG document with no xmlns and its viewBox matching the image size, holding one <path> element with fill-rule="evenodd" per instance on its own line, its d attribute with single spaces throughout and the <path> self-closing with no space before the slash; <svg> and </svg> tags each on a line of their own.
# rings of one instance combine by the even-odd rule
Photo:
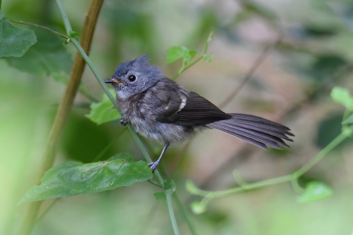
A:
<svg viewBox="0 0 353 235">
<path fill-rule="evenodd" d="M 80 32 L 89 1 L 62 4 L 73 30 Z M 54 1 L 3 0 L 2 12 L 10 19 L 65 32 Z M 208 54 L 214 54 L 214 61 L 200 61 L 178 83 L 219 105 L 241 84 L 264 49 L 271 47 L 223 110 L 280 122 L 296 137 L 290 149 L 264 151 L 210 130 L 197 134 L 187 148 L 168 149 L 161 167 L 177 183 L 176 192 L 198 234 L 352 234 L 352 138 L 300 179 L 302 185 L 320 180 L 333 188 L 330 198 L 315 203 L 297 203 L 298 194 L 285 183 L 215 199 L 204 214 L 193 215 L 189 204 L 199 198 L 186 192 L 185 180 L 205 190 L 221 190 L 236 185 L 234 169 L 247 182 L 289 174 L 340 133 L 344 109 L 329 94 L 334 86 L 353 93 L 353 2 L 106 0 L 90 58 L 101 76 L 109 78 L 119 63 L 146 53 L 152 64 L 173 77 L 180 61 L 166 65 L 167 49 L 183 45 L 201 53 L 211 30 Z M 62 50 L 62 40 L 47 32 L 35 32 L 38 42 L 25 56 L 31 53 L 36 60 L 0 59 L 0 234 L 6 235 L 16 234 L 28 206 L 16 204 L 38 177 L 76 52 L 72 45 Z M 102 89 L 88 68 L 83 87 L 101 99 Z M 90 103 L 77 94 L 55 165 L 69 160 L 90 162 L 97 156 L 104 160 L 125 151 L 142 160 L 137 144 L 128 131 L 122 131 L 119 121 L 97 126 L 84 116 Z M 151 154 L 159 155 L 162 146 L 148 142 Z M 33 234 L 172 234 L 167 205 L 153 196 L 158 191 L 143 182 L 60 198 Z M 52 202 L 44 202 L 43 207 Z M 190 234 L 177 206 L 175 213 L 180 234 Z"/>
</svg>

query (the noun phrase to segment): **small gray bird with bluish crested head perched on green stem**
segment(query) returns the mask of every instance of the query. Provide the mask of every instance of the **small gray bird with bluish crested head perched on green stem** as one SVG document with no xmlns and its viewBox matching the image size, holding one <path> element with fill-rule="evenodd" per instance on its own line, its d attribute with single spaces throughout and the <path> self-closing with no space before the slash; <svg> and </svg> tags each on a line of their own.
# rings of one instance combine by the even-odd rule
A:
<svg viewBox="0 0 353 235">
<path fill-rule="evenodd" d="M 121 109 L 120 123 L 130 123 L 147 138 L 164 144 L 157 161 L 151 162 L 152 172 L 170 144 L 188 140 L 197 130 L 213 128 L 238 137 L 258 147 L 266 144 L 281 149 L 289 147 L 283 140 L 293 141 L 290 129 L 267 119 L 236 113 L 225 113 L 207 99 L 164 76 L 160 68 L 143 55 L 120 64 L 111 83 Z M 283 139 L 283 140 L 282 140 Z"/>
</svg>

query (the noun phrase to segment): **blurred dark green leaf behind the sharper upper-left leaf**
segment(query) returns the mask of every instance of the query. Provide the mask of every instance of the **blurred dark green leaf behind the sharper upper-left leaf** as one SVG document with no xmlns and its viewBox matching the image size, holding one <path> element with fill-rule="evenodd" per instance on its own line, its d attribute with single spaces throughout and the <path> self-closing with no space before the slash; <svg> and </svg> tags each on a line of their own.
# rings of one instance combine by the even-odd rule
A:
<svg viewBox="0 0 353 235">
<path fill-rule="evenodd" d="M 38 42 L 29 48 L 22 57 L 6 57 L 10 66 L 38 77 L 52 76 L 66 84 L 72 67 L 71 55 L 63 45 L 63 40 L 45 30 L 34 30 Z"/>
</svg>

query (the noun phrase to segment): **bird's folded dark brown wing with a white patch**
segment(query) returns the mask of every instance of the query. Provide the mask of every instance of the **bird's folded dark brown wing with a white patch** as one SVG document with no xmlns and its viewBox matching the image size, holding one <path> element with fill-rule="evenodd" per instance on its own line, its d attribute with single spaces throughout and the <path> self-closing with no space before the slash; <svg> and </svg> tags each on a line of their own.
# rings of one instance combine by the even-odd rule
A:
<svg viewBox="0 0 353 235">
<path fill-rule="evenodd" d="M 182 92 L 169 93 L 157 107 L 151 110 L 158 122 L 174 123 L 183 126 L 208 124 L 231 116 L 195 92 L 187 95 Z"/>
</svg>

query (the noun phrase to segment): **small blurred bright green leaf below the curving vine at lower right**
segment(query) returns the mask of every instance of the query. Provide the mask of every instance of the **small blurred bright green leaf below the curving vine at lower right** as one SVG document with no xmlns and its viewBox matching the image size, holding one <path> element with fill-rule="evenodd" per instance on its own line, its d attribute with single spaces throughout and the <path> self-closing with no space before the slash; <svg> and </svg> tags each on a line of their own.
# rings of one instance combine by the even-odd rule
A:
<svg viewBox="0 0 353 235">
<path fill-rule="evenodd" d="M 332 188 L 327 184 L 320 181 L 311 181 L 306 184 L 304 193 L 298 197 L 297 201 L 299 203 L 315 202 L 331 196 L 332 193 Z"/>
</svg>

